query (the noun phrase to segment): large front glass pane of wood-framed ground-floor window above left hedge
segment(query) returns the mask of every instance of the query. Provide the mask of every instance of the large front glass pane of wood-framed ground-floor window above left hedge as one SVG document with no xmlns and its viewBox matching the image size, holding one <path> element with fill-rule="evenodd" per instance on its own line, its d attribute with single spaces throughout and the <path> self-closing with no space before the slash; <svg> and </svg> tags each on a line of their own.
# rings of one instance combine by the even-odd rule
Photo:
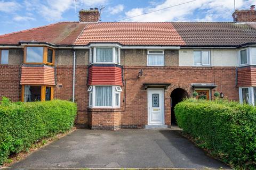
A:
<svg viewBox="0 0 256 170">
<path fill-rule="evenodd" d="M 24 102 L 41 101 L 41 86 L 25 86 Z"/>
</svg>

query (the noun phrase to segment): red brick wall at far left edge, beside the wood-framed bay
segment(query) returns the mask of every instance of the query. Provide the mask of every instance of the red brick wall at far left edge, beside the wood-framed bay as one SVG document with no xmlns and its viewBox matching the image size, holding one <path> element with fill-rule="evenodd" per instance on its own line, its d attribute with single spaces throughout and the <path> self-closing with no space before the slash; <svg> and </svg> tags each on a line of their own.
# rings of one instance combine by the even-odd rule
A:
<svg viewBox="0 0 256 170">
<path fill-rule="evenodd" d="M 5 96 L 12 101 L 20 100 L 20 72 L 20 65 L 0 66 L 0 98 Z"/>
</svg>

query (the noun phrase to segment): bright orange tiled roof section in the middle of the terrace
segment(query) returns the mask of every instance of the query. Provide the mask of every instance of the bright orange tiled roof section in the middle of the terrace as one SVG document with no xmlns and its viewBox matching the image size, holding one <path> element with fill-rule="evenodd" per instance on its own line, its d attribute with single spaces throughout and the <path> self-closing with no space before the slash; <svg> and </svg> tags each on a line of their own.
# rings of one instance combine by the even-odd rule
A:
<svg viewBox="0 0 256 170">
<path fill-rule="evenodd" d="M 170 22 L 99 22 L 87 24 L 75 45 L 185 45 Z"/>
</svg>

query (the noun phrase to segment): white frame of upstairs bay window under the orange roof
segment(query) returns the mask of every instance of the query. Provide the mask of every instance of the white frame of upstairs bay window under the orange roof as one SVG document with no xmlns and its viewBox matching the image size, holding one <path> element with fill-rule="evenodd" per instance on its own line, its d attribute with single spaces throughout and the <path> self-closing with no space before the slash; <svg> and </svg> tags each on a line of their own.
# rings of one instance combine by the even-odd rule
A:
<svg viewBox="0 0 256 170">
<path fill-rule="evenodd" d="M 97 56 L 97 48 L 112 48 L 112 62 L 96 62 L 96 56 Z M 117 54 L 116 54 L 116 48 L 117 48 L 117 52 L 118 52 L 118 60 L 117 60 Z M 93 52 L 93 53 L 92 53 Z M 90 47 L 90 54 L 89 54 L 89 62 L 90 64 L 93 64 L 93 63 L 97 63 L 97 64 L 118 64 L 120 65 L 121 64 L 121 57 L 120 57 L 120 47 L 118 46 L 93 46 L 93 47 Z M 117 63 L 117 61 L 119 61 L 119 63 Z"/>
</svg>

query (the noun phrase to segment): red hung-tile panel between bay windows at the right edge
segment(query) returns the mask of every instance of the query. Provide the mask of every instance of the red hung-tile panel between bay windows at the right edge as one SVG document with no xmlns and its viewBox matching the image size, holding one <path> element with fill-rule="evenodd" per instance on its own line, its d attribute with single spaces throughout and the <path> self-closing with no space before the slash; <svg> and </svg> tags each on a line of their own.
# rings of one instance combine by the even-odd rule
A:
<svg viewBox="0 0 256 170">
<path fill-rule="evenodd" d="M 247 66 L 238 68 L 237 86 L 248 87 L 256 86 L 256 67 Z"/>
</svg>

